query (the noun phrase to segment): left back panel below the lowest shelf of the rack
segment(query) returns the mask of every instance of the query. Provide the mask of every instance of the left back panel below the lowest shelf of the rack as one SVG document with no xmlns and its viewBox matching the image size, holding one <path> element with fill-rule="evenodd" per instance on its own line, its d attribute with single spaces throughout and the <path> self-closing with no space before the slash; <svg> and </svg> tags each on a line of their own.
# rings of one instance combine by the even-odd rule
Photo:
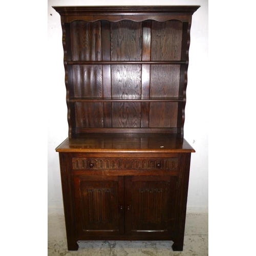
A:
<svg viewBox="0 0 256 256">
<path fill-rule="evenodd" d="M 103 127 L 103 103 L 75 102 L 76 127 Z"/>
</svg>

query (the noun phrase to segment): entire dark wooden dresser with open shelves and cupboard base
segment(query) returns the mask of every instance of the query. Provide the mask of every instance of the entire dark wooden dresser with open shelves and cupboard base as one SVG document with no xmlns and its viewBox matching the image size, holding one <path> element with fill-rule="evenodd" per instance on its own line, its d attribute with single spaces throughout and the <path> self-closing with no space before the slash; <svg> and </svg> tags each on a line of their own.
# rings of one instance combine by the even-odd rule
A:
<svg viewBox="0 0 256 256">
<path fill-rule="evenodd" d="M 199 6 L 53 7 L 69 137 L 59 153 L 69 250 L 170 240 L 183 250 L 190 155 L 188 49 Z"/>
</svg>

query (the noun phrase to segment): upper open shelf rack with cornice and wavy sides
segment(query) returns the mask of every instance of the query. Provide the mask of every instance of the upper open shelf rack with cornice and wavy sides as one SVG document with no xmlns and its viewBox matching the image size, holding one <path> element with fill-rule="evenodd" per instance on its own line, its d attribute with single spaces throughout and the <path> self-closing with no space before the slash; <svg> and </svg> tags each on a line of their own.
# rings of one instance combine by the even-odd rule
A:
<svg viewBox="0 0 256 256">
<path fill-rule="evenodd" d="M 183 136 L 189 31 L 197 8 L 55 7 L 63 28 L 70 138 L 119 127 L 131 133 L 169 128 Z M 93 99 L 100 104 L 76 103 Z M 100 121 L 82 120 L 91 118 L 85 110 Z"/>
</svg>

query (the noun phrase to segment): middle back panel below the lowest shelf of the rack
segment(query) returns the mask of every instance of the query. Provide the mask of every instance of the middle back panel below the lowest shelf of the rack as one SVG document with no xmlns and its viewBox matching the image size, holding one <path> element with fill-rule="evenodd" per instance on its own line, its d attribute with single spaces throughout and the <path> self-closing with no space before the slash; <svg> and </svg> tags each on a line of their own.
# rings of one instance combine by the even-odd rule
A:
<svg viewBox="0 0 256 256">
<path fill-rule="evenodd" d="M 112 127 L 140 127 L 140 103 L 112 103 Z"/>
</svg>

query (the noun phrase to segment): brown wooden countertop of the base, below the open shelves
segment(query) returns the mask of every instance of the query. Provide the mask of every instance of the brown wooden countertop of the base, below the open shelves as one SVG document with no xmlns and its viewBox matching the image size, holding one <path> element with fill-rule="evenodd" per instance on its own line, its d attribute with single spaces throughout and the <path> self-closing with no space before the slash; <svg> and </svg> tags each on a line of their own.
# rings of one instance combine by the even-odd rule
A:
<svg viewBox="0 0 256 256">
<path fill-rule="evenodd" d="M 81 134 L 66 139 L 57 152 L 90 153 L 193 153 L 185 139 L 174 134 Z"/>
</svg>

